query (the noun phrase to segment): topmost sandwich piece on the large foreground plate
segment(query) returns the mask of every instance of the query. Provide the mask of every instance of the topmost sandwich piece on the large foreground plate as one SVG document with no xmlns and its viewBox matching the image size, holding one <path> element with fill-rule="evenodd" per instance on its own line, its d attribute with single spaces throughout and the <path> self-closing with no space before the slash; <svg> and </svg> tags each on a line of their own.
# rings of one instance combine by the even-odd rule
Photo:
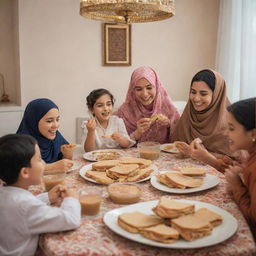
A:
<svg viewBox="0 0 256 256">
<path fill-rule="evenodd" d="M 162 196 L 152 211 L 161 218 L 178 218 L 195 212 L 195 205 L 179 202 Z"/>
</svg>

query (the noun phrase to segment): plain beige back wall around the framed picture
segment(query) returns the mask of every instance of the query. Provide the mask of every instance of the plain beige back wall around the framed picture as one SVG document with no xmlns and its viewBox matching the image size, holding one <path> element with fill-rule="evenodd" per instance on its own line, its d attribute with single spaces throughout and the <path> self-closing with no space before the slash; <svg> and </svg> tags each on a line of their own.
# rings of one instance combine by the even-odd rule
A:
<svg viewBox="0 0 256 256">
<path fill-rule="evenodd" d="M 102 66 L 101 22 L 79 15 L 78 0 L 20 0 L 22 104 L 49 97 L 60 107 L 61 132 L 75 141 L 75 118 L 87 114 L 95 88 L 113 92 L 117 106 L 140 65 L 158 72 L 174 100 L 186 100 L 193 74 L 214 67 L 219 0 L 177 0 L 165 21 L 132 24 L 132 66 Z"/>
</svg>

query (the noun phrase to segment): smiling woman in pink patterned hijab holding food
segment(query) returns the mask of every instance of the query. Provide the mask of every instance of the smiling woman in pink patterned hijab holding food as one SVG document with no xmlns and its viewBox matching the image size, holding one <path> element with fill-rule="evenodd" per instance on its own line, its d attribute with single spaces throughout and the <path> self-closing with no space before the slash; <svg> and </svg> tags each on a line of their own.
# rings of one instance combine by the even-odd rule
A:
<svg viewBox="0 0 256 256">
<path fill-rule="evenodd" d="M 138 142 L 170 142 L 180 115 L 158 75 L 150 67 L 139 67 L 131 76 L 125 102 L 117 111 L 126 129 Z"/>
</svg>

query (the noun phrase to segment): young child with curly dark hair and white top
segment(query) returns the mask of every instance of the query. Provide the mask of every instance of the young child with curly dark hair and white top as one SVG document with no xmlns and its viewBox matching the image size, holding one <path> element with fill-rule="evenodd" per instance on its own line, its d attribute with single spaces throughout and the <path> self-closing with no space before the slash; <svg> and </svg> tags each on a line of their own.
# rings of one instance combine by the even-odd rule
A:
<svg viewBox="0 0 256 256">
<path fill-rule="evenodd" d="M 104 148 L 128 148 L 135 144 L 126 131 L 124 121 L 112 115 L 114 97 L 108 90 L 93 90 L 86 100 L 93 115 L 82 124 L 86 152 Z"/>
</svg>

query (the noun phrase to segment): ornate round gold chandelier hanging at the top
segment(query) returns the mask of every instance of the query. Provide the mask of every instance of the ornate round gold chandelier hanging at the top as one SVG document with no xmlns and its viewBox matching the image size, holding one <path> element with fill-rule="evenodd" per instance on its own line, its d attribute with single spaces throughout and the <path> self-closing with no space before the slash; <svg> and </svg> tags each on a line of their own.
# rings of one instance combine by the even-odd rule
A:
<svg viewBox="0 0 256 256">
<path fill-rule="evenodd" d="M 80 14 L 117 23 L 159 21 L 175 14 L 174 0 L 80 0 Z"/>
</svg>

